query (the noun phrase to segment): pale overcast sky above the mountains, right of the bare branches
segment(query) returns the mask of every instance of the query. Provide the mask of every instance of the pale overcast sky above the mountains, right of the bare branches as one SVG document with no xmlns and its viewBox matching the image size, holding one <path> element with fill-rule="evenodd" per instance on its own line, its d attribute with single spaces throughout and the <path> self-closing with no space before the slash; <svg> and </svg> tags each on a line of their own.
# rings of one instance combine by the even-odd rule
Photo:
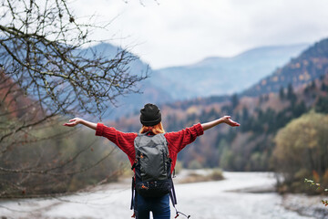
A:
<svg viewBox="0 0 328 219">
<path fill-rule="evenodd" d="M 76 0 L 77 16 L 112 21 L 95 39 L 151 66 L 231 57 L 253 47 L 314 43 L 328 37 L 327 0 Z"/>
</svg>

